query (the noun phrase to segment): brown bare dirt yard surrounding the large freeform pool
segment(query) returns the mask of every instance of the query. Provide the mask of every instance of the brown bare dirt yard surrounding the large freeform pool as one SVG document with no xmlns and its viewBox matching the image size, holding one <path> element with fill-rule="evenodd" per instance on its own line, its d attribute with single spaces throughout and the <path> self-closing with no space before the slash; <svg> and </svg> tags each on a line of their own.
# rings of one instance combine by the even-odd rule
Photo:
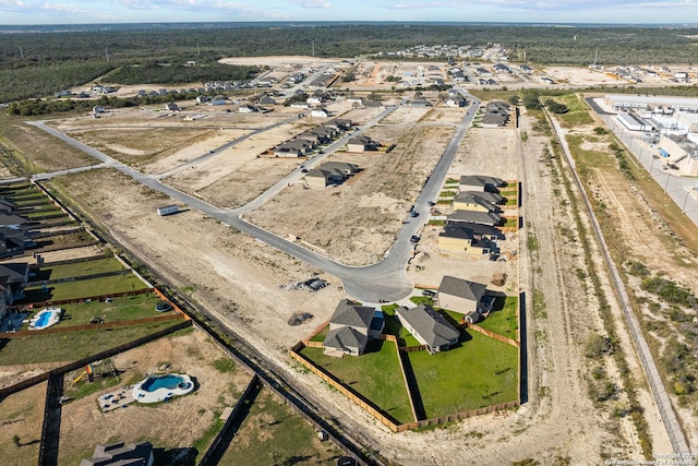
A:
<svg viewBox="0 0 698 466">
<path fill-rule="evenodd" d="M 133 379 L 142 380 L 146 373 L 160 372 L 164 365 L 169 365 L 167 372 L 189 374 L 195 378 L 198 387 L 190 395 L 157 406 L 132 403 L 125 409 L 109 413 L 103 413 L 96 399 L 113 387 L 64 404 L 59 464 L 77 464 L 81 458 L 92 456 L 97 443 L 115 439 L 127 443 L 147 439 L 165 451 L 191 447 L 226 406 L 234 406 L 252 379 L 246 369 L 239 367 L 224 377 L 213 367 L 221 358 L 227 358 L 226 353 L 196 331 L 116 356 L 115 366 L 124 371 L 120 375 L 121 385 Z"/>
</svg>

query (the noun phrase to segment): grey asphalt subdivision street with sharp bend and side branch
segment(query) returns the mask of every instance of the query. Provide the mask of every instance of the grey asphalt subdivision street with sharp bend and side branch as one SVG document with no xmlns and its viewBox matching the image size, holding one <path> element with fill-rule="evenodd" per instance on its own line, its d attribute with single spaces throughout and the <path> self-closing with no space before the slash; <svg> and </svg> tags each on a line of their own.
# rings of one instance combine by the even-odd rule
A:
<svg viewBox="0 0 698 466">
<path fill-rule="evenodd" d="M 305 249 L 299 244 L 296 244 L 291 241 L 288 241 L 270 231 L 267 231 L 263 228 L 260 228 L 255 225 L 252 225 L 244 219 L 241 218 L 241 215 L 244 214 L 248 210 L 255 208 L 258 205 L 262 205 L 264 202 L 268 201 L 273 195 L 280 192 L 284 188 L 288 186 L 289 182 L 293 180 L 298 180 L 301 176 L 300 170 L 293 170 L 287 177 L 285 177 L 281 181 L 272 187 L 268 191 L 266 191 L 261 196 L 253 200 L 251 203 L 245 206 L 236 208 L 236 210 L 224 210 L 220 207 L 216 207 L 210 205 L 197 198 L 178 191 L 167 184 L 160 182 L 157 178 L 143 175 L 140 171 L 121 164 L 115 158 L 87 146 L 79 141 L 73 140 L 72 138 L 57 131 L 48 126 L 46 126 L 45 121 L 34 121 L 29 124 L 34 124 L 37 128 L 55 135 L 56 138 L 61 139 L 67 142 L 71 146 L 85 152 L 86 154 L 97 158 L 103 164 L 103 167 L 111 167 L 115 168 L 137 182 L 147 186 L 156 191 L 163 192 L 164 194 L 169 195 L 180 203 L 188 204 L 189 206 L 196 208 L 215 217 L 226 225 L 229 225 L 240 231 L 250 235 L 274 248 L 277 248 L 280 251 L 284 251 L 303 262 L 306 262 L 322 271 L 325 271 L 332 275 L 337 276 L 344 284 L 345 290 L 347 294 L 356 299 L 365 302 L 380 302 L 381 300 L 388 301 L 397 301 L 401 298 L 405 298 L 412 290 L 412 283 L 407 276 L 406 266 L 407 261 L 411 256 L 412 252 L 412 243 L 410 238 L 413 235 L 419 235 L 421 229 L 424 227 L 429 219 L 429 201 L 433 201 L 437 198 L 438 192 L 445 181 L 446 174 L 448 168 L 450 167 L 456 153 L 458 152 L 458 147 L 462 142 L 462 139 L 466 134 L 466 131 L 470 127 L 472 119 L 477 112 L 478 107 L 480 106 L 480 100 L 474 97 L 471 97 L 472 105 L 467 110 L 461 122 L 458 124 L 452 140 L 449 141 L 444 154 L 440 158 L 438 163 L 434 167 L 434 171 L 431 177 L 426 180 L 424 184 L 424 189 L 422 193 L 417 199 L 414 203 L 414 211 L 420 215 L 416 218 L 410 218 L 407 224 L 402 227 L 396 242 L 393 244 L 393 248 L 388 252 L 387 256 L 382 261 L 373 265 L 364 266 L 364 267 L 351 267 L 347 265 L 339 264 L 326 256 L 323 256 L 314 251 Z M 377 123 L 382 118 L 389 115 L 397 107 L 386 108 L 381 115 L 374 118 L 369 124 Z M 366 126 L 368 127 L 368 126 Z M 364 127 L 361 131 L 365 131 L 366 127 Z M 357 135 L 354 132 L 351 136 Z M 349 135 L 333 143 L 330 145 L 330 152 L 346 143 L 345 140 L 348 140 Z M 317 157 L 311 162 L 311 166 L 318 164 L 323 157 Z M 308 165 L 308 163 L 306 163 Z M 74 170 L 62 170 L 55 174 L 46 174 L 41 175 L 40 179 L 50 178 L 51 176 L 58 176 L 65 172 L 73 172 Z M 406 213 L 407 215 L 407 213 Z"/>
</svg>

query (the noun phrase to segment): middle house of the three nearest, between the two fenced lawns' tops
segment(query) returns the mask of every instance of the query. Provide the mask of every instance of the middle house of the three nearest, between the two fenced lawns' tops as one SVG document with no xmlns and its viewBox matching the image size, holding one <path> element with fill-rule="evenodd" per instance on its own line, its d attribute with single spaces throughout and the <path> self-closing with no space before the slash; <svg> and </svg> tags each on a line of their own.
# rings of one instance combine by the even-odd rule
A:
<svg viewBox="0 0 698 466">
<path fill-rule="evenodd" d="M 432 355 L 458 343 L 460 332 L 431 306 L 399 307 L 395 313 L 402 326 Z"/>
</svg>

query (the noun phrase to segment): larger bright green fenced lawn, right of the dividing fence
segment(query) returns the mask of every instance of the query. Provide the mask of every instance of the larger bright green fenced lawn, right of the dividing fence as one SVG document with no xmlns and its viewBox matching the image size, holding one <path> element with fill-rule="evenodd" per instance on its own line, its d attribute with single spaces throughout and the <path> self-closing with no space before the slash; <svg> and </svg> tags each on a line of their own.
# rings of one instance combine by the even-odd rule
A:
<svg viewBox="0 0 698 466">
<path fill-rule="evenodd" d="M 428 418 L 513 402 L 518 396 L 518 349 L 477 332 L 461 346 L 409 353 Z"/>
</svg>

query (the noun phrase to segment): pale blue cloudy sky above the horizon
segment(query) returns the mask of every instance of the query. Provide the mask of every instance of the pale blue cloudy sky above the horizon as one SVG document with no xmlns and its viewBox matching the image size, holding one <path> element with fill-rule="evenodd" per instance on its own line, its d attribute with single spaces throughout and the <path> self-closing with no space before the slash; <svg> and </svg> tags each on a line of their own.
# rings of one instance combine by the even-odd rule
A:
<svg viewBox="0 0 698 466">
<path fill-rule="evenodd" d="M 0 25 L 254 21 L 698 23 L 698 0 L 0 0 Z"/>
</svg>

